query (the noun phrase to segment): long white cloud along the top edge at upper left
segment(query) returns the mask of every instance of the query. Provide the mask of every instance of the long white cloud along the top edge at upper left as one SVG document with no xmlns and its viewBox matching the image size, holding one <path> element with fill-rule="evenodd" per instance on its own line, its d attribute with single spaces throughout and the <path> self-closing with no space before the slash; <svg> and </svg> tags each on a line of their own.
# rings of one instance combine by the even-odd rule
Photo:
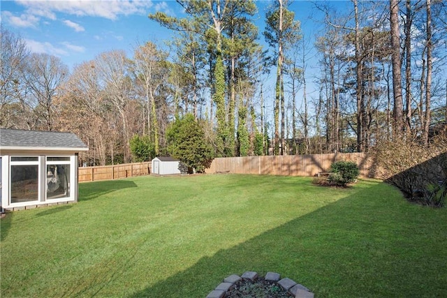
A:
<svg viewBox="0 0 447 298">
<path fill-rule="evenodd" d="M 55 19 L 55 13 L 68 15 L 104 17 L 116 20 L 119 15 L 145 15 L 152 7 L 149 0 L 78 0 L 78 1 L 51 1 L 51 0 L 19 0 L 27 11 L 36 15 Z"/>
</svg>

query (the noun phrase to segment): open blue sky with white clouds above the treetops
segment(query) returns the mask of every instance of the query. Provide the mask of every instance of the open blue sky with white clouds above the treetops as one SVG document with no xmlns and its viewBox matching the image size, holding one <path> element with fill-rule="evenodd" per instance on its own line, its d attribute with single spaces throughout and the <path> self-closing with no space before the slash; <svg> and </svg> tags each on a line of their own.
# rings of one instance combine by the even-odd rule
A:
<svg viewBox="0 0 447 298">
<path fill-rule="evenodd" d="M 259 11 L 255 19 L 259 27 L 263 27 L 268 3 L 257 2 Z M 296 19 L 301 20 L 303 31 L 307 34 L 316 31 L 314 22 L 307 20 L 315 12 L 310 1 L 295 1 L 291 9 Z M 73 69 L 101 52 L 126 50 L 131 57 L 139 43 L 147 40 L 163 43 L 169 39 L 174 33 L 147 17 L 156 11 L 182 15 L 175 1 L 17 0 L 1 1 L 1 26 L 20 34 L 31 52 L 54 54 Z M 260 41 L 264 42 L 261 34 Z"/>
</svg>

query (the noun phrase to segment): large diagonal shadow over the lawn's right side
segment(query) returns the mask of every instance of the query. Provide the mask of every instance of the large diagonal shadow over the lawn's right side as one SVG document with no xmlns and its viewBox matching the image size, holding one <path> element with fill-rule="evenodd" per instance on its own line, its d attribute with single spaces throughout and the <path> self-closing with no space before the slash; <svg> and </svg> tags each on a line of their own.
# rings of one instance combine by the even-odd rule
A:
<svg viewBox="0 0 447 298">
<path fill-rule="evenodd" d="M 430 265 L 424 262 L 423 247 L 432 245 L 427 243 L 427 231 L 411 237 L 402 232 L 427 223 L 412 223 L 420 207 L 409 207 L 399 195 L 389 196 L 393 191 L 380 184 L 362 189 L 242 244 L 204 256 L 193 267 L 131 297 L 198 297 L 198 292 L 205 297 L 223 278 L 244 271 L 261 276 L 275 271 L 318 297 L 445 294 L 446 274 L 440 272 L 445 271 L 446 243 L 435 244 L 435 251 L 441 253 Z"/>
</svg>

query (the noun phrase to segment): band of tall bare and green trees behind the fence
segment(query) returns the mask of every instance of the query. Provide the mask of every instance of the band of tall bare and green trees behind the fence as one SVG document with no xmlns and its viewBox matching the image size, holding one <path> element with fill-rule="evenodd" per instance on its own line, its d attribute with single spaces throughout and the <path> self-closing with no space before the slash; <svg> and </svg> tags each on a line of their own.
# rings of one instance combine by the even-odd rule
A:
<svg viewBox="0 0 447 298">
<path fill-rule="evenodd" d="M 106 165 L 136 160 L 135 135 L 151 154 L 173 154 L 185 119 L 200 127 L 193 140 L 207 159 L 426 145 L 446 125 L 442 1 L 353 0 L 346 15 L 317 2 L 325 17 L 314 45 L 288 0 L 272 1 L 263 34 L 254 1 L 177 2 L 183 18 L 149 15 L 178 31 L 166 47 L 98 53 L 71 71 L 1 27 L 0 127 L 71 131 L 89 146 L 83 162 Z M 315 57 L 318 71 L 308 68 Z"/>
</svg>

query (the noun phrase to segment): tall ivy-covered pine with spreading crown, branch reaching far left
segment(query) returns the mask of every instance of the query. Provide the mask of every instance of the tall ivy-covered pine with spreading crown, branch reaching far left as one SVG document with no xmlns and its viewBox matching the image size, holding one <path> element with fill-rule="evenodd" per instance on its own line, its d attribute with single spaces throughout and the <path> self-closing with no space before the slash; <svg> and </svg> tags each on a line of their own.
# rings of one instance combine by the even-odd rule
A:
<svg viewBox="0 0 447 298">
<path fill-rule="evenodd" d="M 181 34 L 187 32 L 194 40 L 191 45 L 200 46 L 194 54 L 208 57 L 212 98 L 210 119 L 216 121 L 215 152 L 217 156 L 234 156 L 236 87 L 238 80 L 247 77 L 237 73 L 241 73 L 240 64 L 244 57 L 259 47 L 256 43 L 257 28 L 251 22 L 256 4 L 254 0 L 177 0 L 177 3 L 184 9 L 186 17 L 171 17 L 157 12 L 149 18 Z M 193 75 L 199 72 L 193 72 Z M 197 85 L 194 87 L 198 89 Z"/>
</svg>

